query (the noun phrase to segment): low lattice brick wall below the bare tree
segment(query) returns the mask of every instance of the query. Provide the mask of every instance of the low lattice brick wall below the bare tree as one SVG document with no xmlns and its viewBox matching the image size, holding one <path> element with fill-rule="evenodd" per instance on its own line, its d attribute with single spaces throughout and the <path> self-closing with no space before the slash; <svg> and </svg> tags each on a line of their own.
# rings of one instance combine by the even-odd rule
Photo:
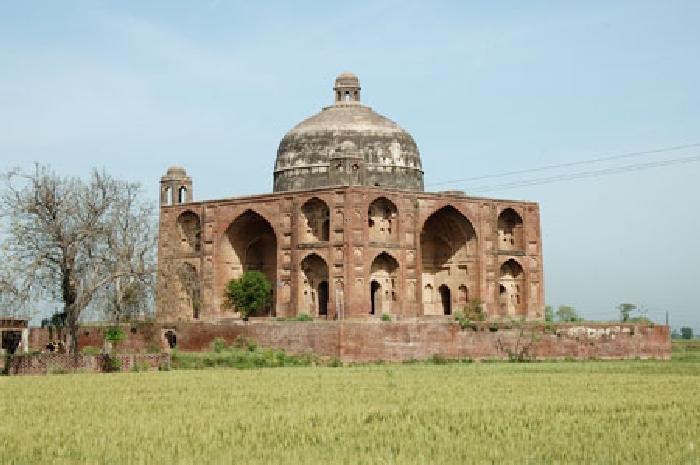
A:
<svg viewBox="0 0 700 465">
<path fill-rule="evenodd" d="M 121 371 L 131 371 L 134 366 L 139 371 L 170 368 L 170 354 L 115 354 L 84 355 L 74 357 L 69 354 L 27 354 L 14 355 L 6 359 L 9 375 L 46 375 L 74 372 L 101 372 L 112 370 L 112 361 L 118 360 Z"/>
</svg>

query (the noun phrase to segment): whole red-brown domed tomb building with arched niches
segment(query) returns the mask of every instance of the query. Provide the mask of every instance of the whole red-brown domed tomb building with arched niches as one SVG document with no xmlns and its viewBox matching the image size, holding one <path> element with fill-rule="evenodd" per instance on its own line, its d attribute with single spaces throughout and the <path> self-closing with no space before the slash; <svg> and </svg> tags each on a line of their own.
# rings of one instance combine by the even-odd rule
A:
<svg viewBox="0 0 700 465">
<path fill-rule="evenodd" d="M 280 142 L 272 193 L 195 202 L 185 170 L 168 169 L 158 316 L 232 318 L 226 283 L 260 270 L 264 315 L 402 319 L 480 298 L 489 318 L 541 318 L 538 205 L 425 192 L 413 137 L 360 103 L 358 78 L 338 76 L 333 95 Z"/>
</svg>

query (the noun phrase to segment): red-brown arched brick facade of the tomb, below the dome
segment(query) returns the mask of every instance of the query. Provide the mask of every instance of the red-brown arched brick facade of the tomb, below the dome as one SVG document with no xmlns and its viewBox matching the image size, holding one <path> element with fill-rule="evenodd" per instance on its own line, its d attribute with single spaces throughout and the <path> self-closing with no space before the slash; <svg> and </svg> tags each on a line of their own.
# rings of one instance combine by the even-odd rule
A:
<svg viewBox="0 0 700 465">
<path fill-rule="evenodd" d="M 309 203 L 328 212 L 327 237 L 308 232 Z M 390 233 L 371 218 L 377 204 L 391 205 Z M 521 219 L 517 242 L 504 240 L 504 212 Z M 182 226 L 187 217 L 201 225 L 197 247 Z M 259 261 L 243 256 L 251 242 L 266 248 L 255 251 Z M 161 297 L 169 298 L 159 299 L 158 313 L 168 320 L 230 316 L 221 310 L 224 287 L 246 269 L 273 283 L 277 316 L 437 315 L 472 297 L 491 317 L 543 316 L 539 210 L 531 202 L 346 187 L 180 204 L 161 208 L 159 247 L 161 269 L 192 269 L 201 289 L 193 308 L 177 271 L 161 276 Z"/>
</svg>

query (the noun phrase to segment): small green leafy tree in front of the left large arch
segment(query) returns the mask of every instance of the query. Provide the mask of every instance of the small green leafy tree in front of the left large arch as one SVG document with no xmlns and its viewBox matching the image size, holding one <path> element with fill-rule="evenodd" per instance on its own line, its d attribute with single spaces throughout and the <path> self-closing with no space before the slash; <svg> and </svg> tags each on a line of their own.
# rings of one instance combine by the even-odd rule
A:
<svg viewBox="0 0 700 465">
<path fill-rule="evenodd" d="M 272 286 L 260 271 L 246 271 L 238 279 L 232 279 L 224 290 L 224 308 L 240 312 L 243 320 L 269 305 Z"/>
</svg>

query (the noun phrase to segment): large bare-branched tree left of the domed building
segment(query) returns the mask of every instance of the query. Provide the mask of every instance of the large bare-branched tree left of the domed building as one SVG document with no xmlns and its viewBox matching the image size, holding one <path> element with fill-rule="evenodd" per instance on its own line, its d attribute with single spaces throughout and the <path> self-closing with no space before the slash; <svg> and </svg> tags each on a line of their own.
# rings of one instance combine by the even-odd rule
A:
<svg viewBox="0 0 700 465">
<path fill-rule="evenodd" d="M 0 295 L 10 303 L 3 310 L 62 302 L 70 352 L 77 355 L 83 311 L 116 282 L 153 275 L 153 207 L 140 200 L 138 184 L 97 170 L 82 180 L 36 165 L 31 173 L 12 170 L 3 181 Z"/>
</svg>

